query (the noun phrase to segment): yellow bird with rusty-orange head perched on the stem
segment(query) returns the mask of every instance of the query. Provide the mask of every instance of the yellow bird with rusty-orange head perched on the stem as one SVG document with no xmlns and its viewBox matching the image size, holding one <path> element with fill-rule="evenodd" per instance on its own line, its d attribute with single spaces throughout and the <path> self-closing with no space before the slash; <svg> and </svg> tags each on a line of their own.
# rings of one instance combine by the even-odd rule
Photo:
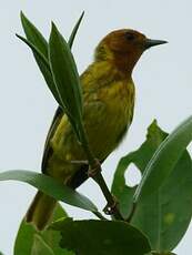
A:
<svg viewBox="0 0 192 255">
<path fill-rule="evenodd" d="M 102 163 L 125 136 L 134 112 L 133 69 L 144 51 L 166 43 L 132 29 L 107 34 L 97 45 L 92 63 L 80 75 L 83 124 L 90 147 Z M 79 163 L 74 163 L 74 161 Z M 87 157 L 59 106 L 44 145 L 42 173 L 77 188 L 88 178 Z M 42 231 L 51 221 L 57 201 L 38 192 L 26 221 Z"/>
</svg>

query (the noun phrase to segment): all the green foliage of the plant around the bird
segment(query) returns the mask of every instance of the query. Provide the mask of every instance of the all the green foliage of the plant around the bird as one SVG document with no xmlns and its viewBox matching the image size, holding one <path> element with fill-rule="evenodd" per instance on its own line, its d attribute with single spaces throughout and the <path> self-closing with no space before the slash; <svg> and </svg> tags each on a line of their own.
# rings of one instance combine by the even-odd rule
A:
<svg viewBox="0 0 192 255">
<path fill-rule="evenodd" d="M 32 50 L 48 88 L 68 115 L 77 139 L 84 149 L 90 169 L 94 169 L 95 159 L 82 122 L 80 79 L 71 52 L 82 18 L 83 13 L 68 42 L 52 22 L 48 42 L 21 12 L 27 39 L 17 37 Z M 48 175 L 30 171 L 0 173 L 0 181 L 28 183 L 58 201 L 91 211 L 101 220 L 73 221 L 58 205 L 50 226 L 43 232 L 36 231 L 32 225 L 22 221 L 14 244 L 14 255 L 173 254 L 172 251 L 182 239 L 192 216 L 192 161 L 186 151 L 191 140 L 192 116 L 171 134 L 163 132 L 154 121 L 140 149 L 120 160 L 111 192 L 99 166 L 93 180 L 100 185 L 108 204 L 114 204 L 113 210 L 109 207 L 104 211 L 109 213 L 111 210 L 110 221 L 98 212 L 88 197 Z M 124 177 L 131 163 L 142 173 L 141 182 L 134 187 L 128 186 Z"/>
</svg>

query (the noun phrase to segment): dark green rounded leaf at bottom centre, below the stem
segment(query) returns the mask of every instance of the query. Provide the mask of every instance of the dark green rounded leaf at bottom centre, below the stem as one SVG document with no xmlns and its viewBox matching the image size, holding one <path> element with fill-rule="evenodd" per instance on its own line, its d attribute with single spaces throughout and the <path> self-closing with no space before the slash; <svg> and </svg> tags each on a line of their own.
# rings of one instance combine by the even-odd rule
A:
<svg viewBox="0 0 192 255">
<path fill-rule="evenodd" d="M 137 228 L 118 221 L 59 221 L 61 247 L 79 255 L 143 255 L 151 251 L 148 238 Z"/>
</svg>

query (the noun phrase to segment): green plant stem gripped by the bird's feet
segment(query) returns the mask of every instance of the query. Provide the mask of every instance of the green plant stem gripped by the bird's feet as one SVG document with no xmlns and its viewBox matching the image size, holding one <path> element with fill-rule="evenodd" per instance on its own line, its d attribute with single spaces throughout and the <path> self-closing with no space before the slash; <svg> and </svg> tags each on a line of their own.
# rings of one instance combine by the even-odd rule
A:
<svg viewBox="0 0 192 255">
<path fill-rule="evenodd" d="M 124 221 L 124 218 L 122 217 L 119 208 L 118 208 L 118 203 L 117 203 L 117 200 L 114 198 L 114 196 L 111 194 L 102 174 L 101 174 L 101 165 L 99 163 L 99 161 L 94 157 L 93 155 L 93 152 L 91 151 L 91 147 L 89 145 L 89 142 L 88 142 L 88 136 L 87 136 L 87 133 L 84 131 L 84 126 L 83 124 L 81 123 L 81 126 L 80 126 L 80 133 L 81 133 L 81 142 L 82 142 L 82 146 L 83 146 L 83 150 L 87 154 L 87 157 L 88 157 L 88 161 L 89 161 L 89 165 L 90 165 L 90 171 L 88 174 L 90 174 L 90 176 L 94 180 L 94 182 L 98 183 L 98 185 L 100 186 L 108 204 L 104 208 L 104 212 L 107 214 L 110 214 L 110 215 L 113 215 L 113 217 L 115 220 L 122 220 Z"/>
</svg>

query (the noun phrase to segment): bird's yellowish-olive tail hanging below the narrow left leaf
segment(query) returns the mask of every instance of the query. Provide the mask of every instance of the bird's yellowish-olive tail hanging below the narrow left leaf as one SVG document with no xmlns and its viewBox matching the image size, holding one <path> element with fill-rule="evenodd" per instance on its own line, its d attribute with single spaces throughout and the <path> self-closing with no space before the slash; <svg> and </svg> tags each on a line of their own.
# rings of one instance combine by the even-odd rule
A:
<svg viewBox="0 0 192 255">
<path fill-rule="evenodd" d="M 26 222 L 32 223 L 38 231 L 42 231 L 51 220 L 57 201 L 42 192 L 38 192 L 32 201 Z"/>
</svg>

